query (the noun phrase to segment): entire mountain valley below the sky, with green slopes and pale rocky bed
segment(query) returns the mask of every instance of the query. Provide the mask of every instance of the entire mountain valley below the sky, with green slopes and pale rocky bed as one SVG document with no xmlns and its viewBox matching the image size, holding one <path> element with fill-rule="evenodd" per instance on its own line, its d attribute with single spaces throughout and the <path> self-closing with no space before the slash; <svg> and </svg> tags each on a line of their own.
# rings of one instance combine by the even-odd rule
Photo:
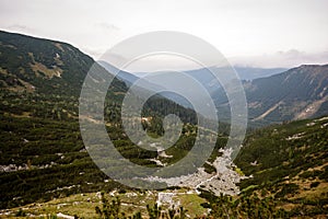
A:
<svg viewBox="0 0 328 219">
<path fill-rule="evenodd" d="M 163 118 L 171 113 L 180 116 L 183 128 L 174 146 L 151 151 L 140 146 L 163 142 L 136 146 L 121 122 L 121 103 L 131 85 L 127 81 L 136 78 L 128 72 L 115 78 L 104 119 L 125 159 L 148 168 L 177 163 L 190 152 L 200 130 L 215 146 L 197 172 L 147 178 L 168 185 L 148 191 L 113 181 L 84 147 L 79 96 L 94 64 L 69 44 L 0 32 L 1 218 L 106 218 L 109 209 L 116 209 L 117 218 L 160 218 L 161 212 L 167 218 L 171 212 L 175 218 L 215 219 L 328 215 L 327 65 L 270 70 L 267 78 L 255 78 L 256 71 L 247 74 L 251 81 L 243 84 L 249 127 L 234 161 L 224 148 L 231 138 L 230 111 L 219 87 L 211 91 L 218 111 L 224 112 L 215 141 L 197 125 L 198 118 L 206 118 L 195 110 L 165 95 L 152 96 L 142 111 L 142 129 L 160 139 Z"/>
</svg>

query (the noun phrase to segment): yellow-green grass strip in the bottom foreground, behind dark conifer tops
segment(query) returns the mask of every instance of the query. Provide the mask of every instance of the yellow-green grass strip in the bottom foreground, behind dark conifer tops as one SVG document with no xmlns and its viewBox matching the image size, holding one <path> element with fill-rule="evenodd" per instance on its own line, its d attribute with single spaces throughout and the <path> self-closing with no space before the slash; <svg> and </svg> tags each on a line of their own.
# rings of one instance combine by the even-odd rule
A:
<svg viewBox="0 0 328 219">
<path fill-rule="evenodd" d="M 169 191 L 166 191 L 169 192 Z M 177 191 L 177 193 L 185 193 L 185 189 Z M 153 206 L 157 199 L 159 192 L 144 192 L 144 193 L 132 193 L 128 192 L 125 194 L 115 193 L 115 197 L 106 194 L 106 198 L 110 201 L 118 197 L 121 200 L 121 212 L 127 216 L 140 211 L 143 217 L 147 218 L 148 212 L 145 209 L 147 205 Z M 178 194 L 174 199 L 178 199 L 185 209 L 188 210 L 188 215 L 191 217 L 200 216 L 207 212 L 207 209 L 200 206 L 201 203 L 206 200 L 200 198 L 196 194 Z M 102 206 L 99 193 L 85 193 L 70 195 L 63 198 L 56 198 L 47 203 L 38 203 L 25 205 L 22 207 L 11 208 L 11 215 L 8 218 L 16 218 L 14 215 L 22 209 L 25 214 L 32 214 L 34 216 L 45 216 L 45 215 L 57 215 L 59 212 L 74 216 L 81 218 L 96 218 L 95 207 Z"/>
</svg>

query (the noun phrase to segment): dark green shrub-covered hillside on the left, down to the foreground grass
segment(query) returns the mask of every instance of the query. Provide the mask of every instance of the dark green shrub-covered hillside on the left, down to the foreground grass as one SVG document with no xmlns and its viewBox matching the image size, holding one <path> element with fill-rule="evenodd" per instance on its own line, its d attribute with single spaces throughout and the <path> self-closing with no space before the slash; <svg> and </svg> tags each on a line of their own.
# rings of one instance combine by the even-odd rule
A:
<svg viewBox="0 0 328 219">
<path fill-rule="evenodd" d="M 0 34 L 0 208 L 49 200 L 74 193 L 120 189 L 92 162 L 80 134 L 79 95 L 94 60 L 71 45 L 20 34 Z M 108 73 L 108 72 L 106 72 Z M 114 79 L 108 89 L 106 128 L 117 150 L 134 163 L 155 166 L 156 151 L 137 147 L 124 134 L 120 107 L 127 85 Z M 161 107 L 161 106 L 166 107 Z M 163 135 L 161 119 L 175 112 L 192 124 L 192 110 L 154 96 L 147 102 L 143 126 Z M 185 127 L 169 153 L 175 162 L 190 149 L 194 130 Z M 178 150 L 177 153 L 175 150 Z"/>
</svg>

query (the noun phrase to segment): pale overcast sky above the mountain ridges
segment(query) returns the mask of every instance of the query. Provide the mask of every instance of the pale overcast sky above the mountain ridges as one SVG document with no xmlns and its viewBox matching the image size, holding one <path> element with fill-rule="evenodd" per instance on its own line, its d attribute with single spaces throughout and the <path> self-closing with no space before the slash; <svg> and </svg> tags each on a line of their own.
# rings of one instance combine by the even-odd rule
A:
<svg viewBox="0 0 328 219">
<path fill-rule="evenodd" d="M 328 62 L 327 9 L 327 0 L 1 0 L 0 30 L 67 42 L 95 59 L 133 35 L 179 31 L 232 65 L 291 68 Z"/>
</svg>

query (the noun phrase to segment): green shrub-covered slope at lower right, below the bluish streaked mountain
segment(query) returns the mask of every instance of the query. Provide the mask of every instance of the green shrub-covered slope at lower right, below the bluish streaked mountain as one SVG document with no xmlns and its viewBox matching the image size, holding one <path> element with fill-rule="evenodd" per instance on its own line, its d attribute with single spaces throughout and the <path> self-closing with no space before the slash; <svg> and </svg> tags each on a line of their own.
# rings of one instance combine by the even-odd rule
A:
<svg viewBox="0 0 328 219">
<path fill-rule="evenodd" d="M 326 116 L 253 131 L 235 160 L 253 175 L 242 181 L 241 189 L 273 196 L 290 217 L 327 216 L 327 130 Z"/>
</svg>

